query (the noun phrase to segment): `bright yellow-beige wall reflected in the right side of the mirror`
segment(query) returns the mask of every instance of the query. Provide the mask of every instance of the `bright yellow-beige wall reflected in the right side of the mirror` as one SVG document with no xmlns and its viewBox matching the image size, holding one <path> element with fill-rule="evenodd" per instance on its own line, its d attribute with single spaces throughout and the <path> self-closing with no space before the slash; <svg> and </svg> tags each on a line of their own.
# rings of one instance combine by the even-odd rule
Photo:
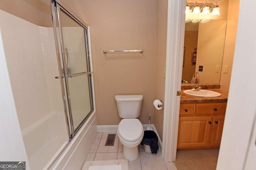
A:
<svg viewBox="0 0 256 170">
<path fill-rule="evenodd" d="M 222 64 L 225 33 L 226 20 L 199 23 L 196 71 L 199 66 L 203 66 L 203 71 L 198 71 L 198 83 L 220 83 L 220 70 L 215 72 L 215 68 Z"/>
</svg>

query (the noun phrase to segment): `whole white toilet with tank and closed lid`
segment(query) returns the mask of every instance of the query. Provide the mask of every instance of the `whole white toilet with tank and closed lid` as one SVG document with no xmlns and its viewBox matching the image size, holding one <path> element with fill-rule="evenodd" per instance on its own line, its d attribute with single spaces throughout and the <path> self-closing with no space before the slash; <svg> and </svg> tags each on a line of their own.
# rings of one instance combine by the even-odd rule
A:
<svg viewBox="0 0 256 170">
<path fill-rule="evenodd" d="M 144 129 L 142 123 L 136 119 L 140 116 L 143 100 L 142 95 L 116 95 L 118 115 L 122 118 L 118 125 L 117 135 L 123 144 L 123 156 L 134 161 L 139 156 L 138 145 L 143 139 Z"/>
</svg>

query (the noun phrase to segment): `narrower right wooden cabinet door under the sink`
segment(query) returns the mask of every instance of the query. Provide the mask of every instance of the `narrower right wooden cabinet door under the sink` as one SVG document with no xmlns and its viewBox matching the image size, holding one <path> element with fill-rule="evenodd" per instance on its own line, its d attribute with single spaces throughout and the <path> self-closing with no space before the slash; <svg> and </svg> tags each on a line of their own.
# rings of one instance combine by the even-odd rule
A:
<svg viewBox="0 0 256 170">
<path fill-rule="evenodd" d="M 214 116 L 212 121 L 212 134 L 210 139 L 210 146 L 220 146 L 222 130 L 225 116 Z"/>
</svg>

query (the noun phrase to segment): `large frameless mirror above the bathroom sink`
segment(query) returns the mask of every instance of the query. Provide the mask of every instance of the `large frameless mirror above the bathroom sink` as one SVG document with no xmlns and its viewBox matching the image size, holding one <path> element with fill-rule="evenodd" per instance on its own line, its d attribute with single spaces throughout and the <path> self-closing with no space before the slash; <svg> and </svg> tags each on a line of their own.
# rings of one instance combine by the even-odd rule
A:
<svg viewBox="0 0 256 170">
<path fill-rule="evenodd" d="M 185 24 L 183 84 L 220 83 L 226 25 L 226 20 Z"/>
</svg>

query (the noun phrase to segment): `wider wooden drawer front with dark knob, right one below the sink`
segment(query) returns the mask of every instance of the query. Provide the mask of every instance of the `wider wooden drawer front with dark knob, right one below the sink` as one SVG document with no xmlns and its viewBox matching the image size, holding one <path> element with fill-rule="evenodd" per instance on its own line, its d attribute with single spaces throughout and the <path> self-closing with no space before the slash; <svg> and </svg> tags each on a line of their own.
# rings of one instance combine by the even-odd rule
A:
<svg viewBox="0 0 256 170">
<path fill-rule="evenodd" d="M 227 103 L 196 104 L 196 115 L 225 114 Z"/>
</svg>

